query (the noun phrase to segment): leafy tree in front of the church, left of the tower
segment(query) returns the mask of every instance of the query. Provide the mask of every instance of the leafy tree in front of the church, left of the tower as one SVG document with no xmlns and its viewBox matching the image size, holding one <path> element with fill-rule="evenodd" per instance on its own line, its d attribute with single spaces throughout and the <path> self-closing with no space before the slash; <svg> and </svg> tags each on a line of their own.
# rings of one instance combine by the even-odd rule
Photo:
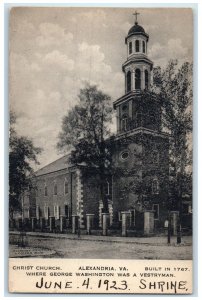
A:
<svg viewBox="0 0 202 300">
<path fill-rule="evenodd" d="M 111 164 L 111 98 L 96 86 L 87 84 L 80 90 L 78 99 L 79 103 L 62 120 L 57 147 L 65 152 L 71 150 L 69 160 L 72 164 L 85 164 L 87 168 L 96 169 L 101 200 L 107 212 L 104 185 Z"/>
</svg>

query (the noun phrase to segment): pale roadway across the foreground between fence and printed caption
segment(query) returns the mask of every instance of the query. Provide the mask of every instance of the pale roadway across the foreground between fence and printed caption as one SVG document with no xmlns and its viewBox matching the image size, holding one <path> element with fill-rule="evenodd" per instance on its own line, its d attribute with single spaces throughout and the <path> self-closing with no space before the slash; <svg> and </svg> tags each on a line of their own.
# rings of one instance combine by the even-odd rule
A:
<svg viewBox="0 0 202 300">
<path fill-rule="evenodd" d="M 16 238 L 17 234 L 12 233 L 10 236 Z M 181 245 L 177 245 L 176 237 L 172 237 L 171 244 L 167 245 L 166 236 L 148 238 L 81 236 L 78 238 L 76 235 L 44 233 L 37 236 L 36 233 L 29 233 L 26 236 L 26 242 L 30 253 L 32 249 L 35 251 L 38 248 L 41 249 L 41 255 L 38 249 L 37 257 L 84 259 L 192 259 L 191 236 L 183 237 Z M 10 257 L 16 257 L 16 255 L 13 255 L 12 249 L 14 249 L 14 245 L 10 245 Z M 18 252 L 18 257 L 23 257 L 23 255 L 20 254 L 19 247 Z"/>
</svg>

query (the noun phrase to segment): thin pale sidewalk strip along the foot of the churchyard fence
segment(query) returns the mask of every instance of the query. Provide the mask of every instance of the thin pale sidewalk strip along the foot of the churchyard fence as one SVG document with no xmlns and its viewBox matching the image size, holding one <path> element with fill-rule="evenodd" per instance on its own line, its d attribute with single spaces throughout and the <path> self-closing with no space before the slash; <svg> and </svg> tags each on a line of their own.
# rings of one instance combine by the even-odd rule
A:
<svg viewBox="0 0 202 300">
<path fill-rule="evenodd" d="M 18 231 L 10 231 L 10 235 L 19 235 Z M 167 245 L 167 236 L 152 236 L 152 237 L 115 237 L 115 236 L 98 236 L 98 235 L 80 235 L 77 234 L 60 234 L 60 233 L 46 233 L 46 232 L 26 232 L 27 236 L 35 236 L 41 238 L 53 239 L 69 239 L 95 242 L 109 242 L 109 243 L 124 243 L 124 244 L 144 244 L 150 246 L 165 246 Z M 182 236 L 182 243 L 177 244 L 177 237 L 171 237 L 172 246 L 191 246 L 192 236 Z"/>
</svg>

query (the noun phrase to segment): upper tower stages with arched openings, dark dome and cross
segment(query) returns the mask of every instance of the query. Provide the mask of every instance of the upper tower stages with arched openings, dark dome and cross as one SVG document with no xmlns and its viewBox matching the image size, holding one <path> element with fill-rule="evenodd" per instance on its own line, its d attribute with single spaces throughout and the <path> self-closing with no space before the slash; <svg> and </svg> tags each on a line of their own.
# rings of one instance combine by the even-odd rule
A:
<svg viewBox="0 0 202 300">
<path fill-rule="evenodd" d="M 136 128 L 161 130 L 160 103 L 149 93 L 153 69 L 153 62 L 147 56 L 149 35 L 138 24 L 138 14 L 135 12 L 135 24 L 125 38 L 127 59 L 122 65 L 125 95 L 114 102 L 117 111 L 117 134 Z"/>
</svg>

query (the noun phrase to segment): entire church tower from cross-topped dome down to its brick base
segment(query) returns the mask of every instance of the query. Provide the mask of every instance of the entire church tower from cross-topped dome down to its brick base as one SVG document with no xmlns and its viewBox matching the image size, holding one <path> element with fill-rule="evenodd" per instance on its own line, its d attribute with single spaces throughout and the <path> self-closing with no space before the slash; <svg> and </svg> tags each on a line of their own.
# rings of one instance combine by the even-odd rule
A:
<svg viewBox="0 0 202 300">
<path fill-rule="evenodd" d="M 164 224 L 167 213 L 169 135 L 161 125 L 161 101 L 151 91 L 149 35 L 138 24 L 138 13 L 134 15 L 135 23 L 125 38 L 125 94 L 113 103 L 117 115 L 113 212 L 114 220 L 121 212 L 130 212 L 130 224 L 136 229 L 144 223 L 141 213 L 155 212 L 157 228 Z"/>
</svg>

